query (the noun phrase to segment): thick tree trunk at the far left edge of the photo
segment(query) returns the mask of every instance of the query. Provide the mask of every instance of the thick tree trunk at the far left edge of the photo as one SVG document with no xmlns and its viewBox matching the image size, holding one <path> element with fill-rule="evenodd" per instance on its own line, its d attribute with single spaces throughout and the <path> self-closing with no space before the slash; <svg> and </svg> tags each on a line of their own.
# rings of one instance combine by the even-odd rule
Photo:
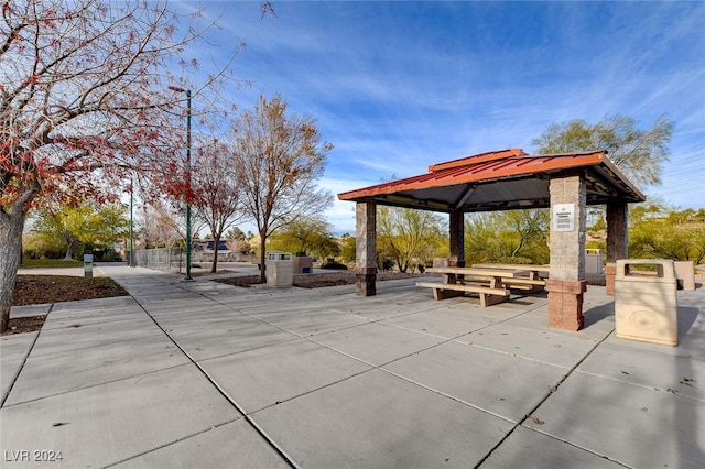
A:
<svg viewBox="0 0 705 469">
<path fill-rule="evenodd" d="M 24 211 L 0 212 L 0 331 L 10 327 L 10 307 L 22 255 Z"/>
</svg>

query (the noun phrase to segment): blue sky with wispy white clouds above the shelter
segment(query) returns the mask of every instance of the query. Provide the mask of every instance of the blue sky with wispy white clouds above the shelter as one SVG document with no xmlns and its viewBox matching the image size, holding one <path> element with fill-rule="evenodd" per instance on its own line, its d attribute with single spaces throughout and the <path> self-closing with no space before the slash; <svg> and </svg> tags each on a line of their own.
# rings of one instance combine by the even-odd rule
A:
<svg viewBox="0 0 705 469">
<path fill-rule="evenodd" d="M 181 9 L 197 3 L 185 1 Z M 335 145 L 334 195 L 506 148 L 532 152 L 551 123 L 607 114 L 674 124 L 663 184 L 705 207 L 705 2 L 200 2 L 224 13 L 204 63 L 242 40 L 228 96 L 241 109 L 280 92 Z M 326 212 L 355 232 L 351 203 Z"/>
</svg>

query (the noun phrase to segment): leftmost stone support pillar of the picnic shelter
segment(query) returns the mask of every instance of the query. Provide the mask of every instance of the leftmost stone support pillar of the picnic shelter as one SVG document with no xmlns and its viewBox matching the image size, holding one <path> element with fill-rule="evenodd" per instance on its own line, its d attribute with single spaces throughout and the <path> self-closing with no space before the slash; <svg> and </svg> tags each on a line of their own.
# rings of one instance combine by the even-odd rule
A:
<svg viewBox="0 0 705 469">
<path fill-rule="evenodd" d="M 377 204 L 358 201 L 355 206 L 355 294 L 377 294 Z"/>
</svg>

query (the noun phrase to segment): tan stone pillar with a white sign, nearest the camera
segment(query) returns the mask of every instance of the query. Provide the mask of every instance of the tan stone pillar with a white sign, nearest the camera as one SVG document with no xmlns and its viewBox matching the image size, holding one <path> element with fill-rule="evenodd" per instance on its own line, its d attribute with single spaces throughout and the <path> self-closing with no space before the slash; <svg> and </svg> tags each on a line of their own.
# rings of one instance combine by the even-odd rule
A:
<svg viewBox="0 0 705 469">
<path fill-rule="evenodd" d="M 546 280 L 549 291 L 549 327 L 579 330 L 583 317 L 585 281 L 585 214 L 586 186 L 582 176 L 551 179 L 551 269 Z M 556 230 L 555 210 L 558 204 L 574 209 L 573 229 Z"/>
</svg>

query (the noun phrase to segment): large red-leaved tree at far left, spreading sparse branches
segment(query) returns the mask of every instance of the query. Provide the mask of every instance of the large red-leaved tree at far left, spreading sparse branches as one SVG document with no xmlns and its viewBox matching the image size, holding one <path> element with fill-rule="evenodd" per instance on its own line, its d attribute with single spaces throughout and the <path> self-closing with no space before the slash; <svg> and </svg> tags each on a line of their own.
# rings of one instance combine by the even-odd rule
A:
<svg viewBox="0 0 705 469">
<path fill-rule="evenodd" d="M 124 168 L 164 167 L 181 157 L 184 98 L 167 87 L 194 96 L 203 88 L 170 69 L 182 64 L 191 74 L 195 65 L 183 50 L 203 31 L 177 37 L 175 24 L 188 20 L 161 0 L 1 3 L 0 329 L 7 330 L 24 221 L 40 197 L 106 197 L 124 186 Z M 214 74 L 205 86 L 226 76 Z"/>
</svg>

